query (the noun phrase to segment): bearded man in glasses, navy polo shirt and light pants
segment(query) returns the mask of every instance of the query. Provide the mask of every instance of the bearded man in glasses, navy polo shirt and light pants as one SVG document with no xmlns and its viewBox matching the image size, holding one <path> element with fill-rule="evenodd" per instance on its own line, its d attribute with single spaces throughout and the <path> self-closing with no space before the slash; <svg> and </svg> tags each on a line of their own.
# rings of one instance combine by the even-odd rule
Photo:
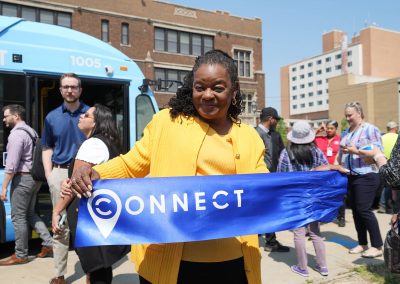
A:
<svg viewBox="0 0 400 284">
<path fill-rule="evenodd" d="M 81 80 L 74 73 L 60 78 L 60 92 L 64 102 L 46 116 L 42 135 L 42 158 L 51 201 L 55 206 L 60 198 L 61 183 L 68 177 L 68 167 L 79 146 L 86 139 L 79 130 L 79 117 L 89 109 L 79 98 L 82 93 Z M 54 234 L 54 265 L 56 277 L 51 284 L 64 284 L 67 273 L 69 249 L 68 222 L 60 234 Z"/>
</svg>

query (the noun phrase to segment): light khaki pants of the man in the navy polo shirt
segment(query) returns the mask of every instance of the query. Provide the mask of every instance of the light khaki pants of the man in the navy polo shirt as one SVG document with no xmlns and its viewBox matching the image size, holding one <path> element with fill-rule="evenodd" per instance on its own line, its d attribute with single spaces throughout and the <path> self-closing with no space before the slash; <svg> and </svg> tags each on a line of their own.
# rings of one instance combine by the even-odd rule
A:
<svg viewBox="0 0 400 284">
<path fill-rule="evenodd" d="M 51 174 L 47 178 L 47 183 L 50 189 L 51 202 L 53 208 L 60 199 L 61 182 L 68 177 L 68 169 L 53 168 Z M 65 211 L 63 214 L 67 214 Z M 69 250 L 69 226 L 68 220 L 65 222 L 64 228 L 60 234 L 54 234 L 54 266 L 56 276 L 62 276 L 67 273 L 67 261 Z"/>
</svg>

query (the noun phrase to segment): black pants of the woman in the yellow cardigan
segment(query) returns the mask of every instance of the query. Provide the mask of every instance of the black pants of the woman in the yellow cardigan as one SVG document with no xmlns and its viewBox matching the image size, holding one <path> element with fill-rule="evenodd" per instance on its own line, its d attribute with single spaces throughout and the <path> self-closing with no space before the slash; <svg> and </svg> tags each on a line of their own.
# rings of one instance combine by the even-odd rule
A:
<svg viewBox="0 0 400 284">
<path fill-rule="evenodd" d="M 140 284 L 151 284 L 139 276 Z M 177 284 L 247 284 L 243 257 L 223 262 L 181 261 Z"/>
</svg>

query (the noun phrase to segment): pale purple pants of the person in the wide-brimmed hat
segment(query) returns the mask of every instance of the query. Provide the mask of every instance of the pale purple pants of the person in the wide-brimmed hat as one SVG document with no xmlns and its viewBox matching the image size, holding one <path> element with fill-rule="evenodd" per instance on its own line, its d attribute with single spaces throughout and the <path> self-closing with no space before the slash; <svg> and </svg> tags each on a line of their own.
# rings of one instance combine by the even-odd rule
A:
<svg viewBox="0 0 400 284">
<path fill-rule="evenodd" d="M 314 245 L 316 262 L 320 267 L 326 266 L 325 244 L 319 230 L 319 222 L 313 222 L 307 226 L 310 238 Z M 293 230 L 294 246 L 297 255 L 297 265 L 301 269 L 307 269 L 307 250 L 306 250 L 306 227 Z"/>
</svg>

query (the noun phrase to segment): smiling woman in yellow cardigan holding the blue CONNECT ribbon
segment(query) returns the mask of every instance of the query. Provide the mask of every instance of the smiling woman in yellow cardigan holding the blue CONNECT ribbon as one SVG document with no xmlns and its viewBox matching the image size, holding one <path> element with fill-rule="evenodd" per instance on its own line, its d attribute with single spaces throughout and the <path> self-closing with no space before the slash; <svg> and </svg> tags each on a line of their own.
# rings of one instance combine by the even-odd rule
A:
<svg viewBox="0 0 400 284">
<path fill-rule="evenodd" d="M 72 187 L 84 196 L 94 179 L 268 172 L 264 145 L 240 123 L 242 98 L 234 60 L 220 50 L 196 59 L 184 85 L 126 155 L 82 167 Z M 90 179 L 89 179 L 90 178 Z M 132 245 L 140 283 L 261 283 L 258 237 Z"/>
</svg>

